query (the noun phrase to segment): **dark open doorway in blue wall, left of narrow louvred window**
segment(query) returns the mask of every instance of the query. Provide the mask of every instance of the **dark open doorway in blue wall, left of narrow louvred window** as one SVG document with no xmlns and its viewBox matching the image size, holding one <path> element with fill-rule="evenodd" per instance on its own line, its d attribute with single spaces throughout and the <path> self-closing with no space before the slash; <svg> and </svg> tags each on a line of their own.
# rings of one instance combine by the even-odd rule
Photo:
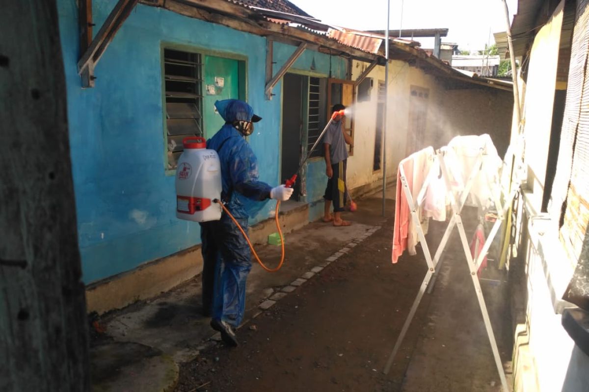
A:
<svg viewBox="0 0 589 392">
<path fill-rule="evenodd" d="M 303 133 L 303 91 L 305 76 L 286 73 L 282 79 L 282 165 L 280 180 L 292 177 L 299 169 Z M 300 176 L 294 184 L 291 200 L 300 201 Z"/>
</svg>

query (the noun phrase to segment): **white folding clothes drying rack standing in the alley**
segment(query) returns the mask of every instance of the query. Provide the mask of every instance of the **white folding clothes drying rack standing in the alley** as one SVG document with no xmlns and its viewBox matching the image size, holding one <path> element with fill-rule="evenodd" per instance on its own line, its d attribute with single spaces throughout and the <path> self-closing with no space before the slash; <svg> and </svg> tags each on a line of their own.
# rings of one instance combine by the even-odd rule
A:
<svg viewBox="0 0 589 392">
<path fill-rule="evenodd" d="M 403 165 L 399 165 L 399 172 L 400 172 L 400 176 L 401 176 L 401 183 L 403 186 L 403 192 L 405 192 L 405 197 L 407 198 L 407 203 L 408 203 L 409 209 L 411 210 L 411 216 L 413 219 L 413 223 L 415 224 L 415 227 L 416 227 L 416 230 L 418 233 L 419 242 L 421 242 L 423 256 L 425 256 L 425 260 L 428 264 L 428 272 L 426 272 L 425 277 L 423 277 L 423 282 L 422 282 L 421 286 L 419 287 L 419 291 L 417 293 L 417 296 L 415 297 L 415 300 L 413 301 L 413 306 L 411 307 L 411 310 L 409 311 L 409 315 L 407 316 L 407 319 L 405 320 L 405 324 L 403 324 L 401 334 L 399 334 L 399 337 L 395 343 L 395 347 L 393 348 L 393 351 L 391 353 L 391 357 L 389 357 L 389 360 L 386 363 L 384 373 L 385 374 L 389 373 L 393 359 L 395 358 L 395 355 L 396 355 L 397 351 L 399 350 L 399 347 L 401 347 L 401 343 L 403 341 L 403 338 L 405 337 L 405 334 L 406 334 L 407 330 L 409 329 L 409 325 L 411 324 L 411 321 L 413 320 L 413 316 L 415 316 L 415 311 L 417 310 L 419 303 L 421 302 L 423 294 L 425 293 L 425 290 L 427 289 L 428 284 L 430 283 L 430 280 L 432 279 L 432 276 L 434 276 L 435 273 L 439 272 L 439 266 L 441 266 L 441 263 L 439 263 L 440 257 L 442 256 L 442 253 L 444 252 L 446 244 L 448 244 L 448 240 L 450 238 L 450 234 L 452 233 L 452 230 L 454 229 L 454 226 L 456 226 L 456 227 L 458 227 L 458 233 L 460 234 L 462 246 L 464 247 L 464 254 L 466 256 L 466 262 L 468 264 L 468 269 L 471 273 L 472 284 L 474 285 L 475 292 L 477 293 L 479 307 L 481 309 L 482 317 L 485 322 L 485 328 L 487 329 L 489 343 L 491 344 L 491 349 L 493 351 L 493 356 L 495 358 L 495 364 L 497 365 L 497 371 L 499 373 L 499 377 L 501 378 L 501 384 L 502 384 L 503 390 L 505 392 L 508 392 L 509 389 L 507 386 L 507 380 L 505 378 L 505 371 L 504 371 L 502 363 L 501 363 L 501 357 L 499 357 L 499 350 L 497 349 L 497 342 L 495 341 L 495 335 L 494 335 L 493 329 L 491 327 L 491 320 L 489 319 L 487 306 L 485 305 L 485 299 L 482 296 L 481 284 L 479 283 L 479 280 L 478 280 L 477 271 L 478 271 L 479 266 L 482 263 L 482 260 L 484 260 L 486 254 L 489 250 L 489 246 L 491 246 L 492 240 L 494 239 L 495 235 L 497 235 L 499 227 L 501 227 L 501 222 L 504 219 L 505 213 L 507 212 L 509 205 L 511 205 L 511 202 L 514 199 L 515 193 L 517 192 L 517 189 L 519 186 L 518 185 L 512 186 L 512 190 L 509 193 L 508 197 L 505 199 L 505 204 L 503 205 L 501 203 L 501 190 L 498 189 L 497 192 L 494 191 L 494 188 L 497 186 L 494 186 L 492 180 L 488 177 L 487 171 L 482 170 L 483 169 L 482 165 L 484 163 L 485 155 L 484 155 L 484 149 L 481 148 L 479 150 L 477 158 L 475 159 L 475 165 L 472 166 L 471 173 L 469 174 L 468 179 L 466 180 L 464 189 L 458 195 L 459 197 L 456 197 L 454 195 L 454 190 L 452 189 L 452 184 L 450 182 L 450 177 L 449 177 L 449 173 L 448 173 L 448 167 L 446 166 L 446 162 L 444 159 L 445 153 L 446 153 L 445 149 L 439 149 L 436 151 L 436 155 L 434 157 L 434 164 L 431 166 L 431 169 L 430 169 L 428 175 L 426 176 L 425 181 L 423 182 L 423 186 L 421 187 L 421 190 L 419 190 L 416 200 L 413 200 L 411 189 L 409 188 L 409 185 L 408 185 L 408 182 L 407 182 L 407 179 L 405 176 L 405 170 L 403 170 Z M 437 169 L 437 167 L 438 167 L 435 164 L 436 159 L 439 162 L 439 168 L 441 169 L 442 176 L 444 177 L 444 181 L 446 183 L 446 195 L 449 196 L 449 198 L 451 200 L 453 214 L 450 219 L 450 222 L 448 223 L 448 227 L 446 227 L 446 231 L 444 233 L 444 236 L 442 236 L 442 240 L 439 243 L 438 249 L 436 250 L 436 254 L 434 256 L 434 259 L 432 260 L 431 253 L 429 252 L 428 243 L 426 242 L 425 234 L 423 233 L 423 227 L 421 226 L 421 221 L 418 216 L 418 209 L 422 205 L 423 201 L 425 200 L 425 193 L 426 193 L 426 190 L 428 189 L 429 183 L 432 181 L 432 179 L 434 179 L 435 176 L 438 175 L 438 170 L 434 170 L 434 169 Z M 497 209 L 497 212 L 498 212 L 498 219 L 495 221 L 493 227 L 491 228 L 491 232 L 489 232 L 489 235 L 488 235 L 487 239 L 485 240 L 485 244 L 482 247 L 481 252 L 478 253 L 477 259 L 474 260 L 472 258 L 471 249 L 469 247 L 468 240 L 466 240 L 466 234 L 464 231 L 464 225 L 462 224 L 461 213 L 462 213 L 462 208 L 465 205 L 466 198 L 468 197 L 468 195 L 471 191 L 474 180 L 477 178 L 477 176 L 482 175 L 483 173 L 484 173 L 485 177 L 487 177 L 487 185 L 489 186 L 489 189 L 491 189 L 492 199 L 495 204 L 495 208 Z M 475 253 L 475 256 L 477 256 L 477 253 Z"/>
</svg>

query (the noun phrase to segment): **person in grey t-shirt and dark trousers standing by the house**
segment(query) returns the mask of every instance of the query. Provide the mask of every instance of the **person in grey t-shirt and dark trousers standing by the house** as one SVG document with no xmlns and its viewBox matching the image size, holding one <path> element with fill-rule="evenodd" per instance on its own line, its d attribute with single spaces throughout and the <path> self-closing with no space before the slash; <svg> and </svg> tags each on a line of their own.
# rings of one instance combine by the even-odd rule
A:
<svg viewBox="0 0 589 392">
<path fill-rule="evenodd" d="M 345 108 L 342 104 L 337 103 L 333 105 L 332 114 Z M 343 127 L 344 122 L 345 116 L 336 116 L 323 136 L 325 172 L 327 174 L 327 187 L 325 195 L 323 195 L 325 199 L 323 222 L 333 222 L 333 226 L 350 226 L 350 222 L 342 219 L 342 211 L 345 210 L 348 200 L 348 188 L 346 187 L 348 149 L 346 144 L 352 145 L 352 138 Z M 331 213 L 332 203 L 333 215 Z"/>
</svg>

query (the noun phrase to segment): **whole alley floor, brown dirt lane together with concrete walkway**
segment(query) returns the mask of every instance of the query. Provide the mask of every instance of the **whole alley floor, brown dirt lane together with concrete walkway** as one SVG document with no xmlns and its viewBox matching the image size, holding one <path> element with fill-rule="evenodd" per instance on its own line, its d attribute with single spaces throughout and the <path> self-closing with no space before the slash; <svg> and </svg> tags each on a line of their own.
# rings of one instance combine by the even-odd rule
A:
<svg viewBox="0 0 589 392">
<path fill-rule="evenodd" d="M 316 222 L 287 234 L 286 259 L 279 272 L 267 273 L 254 263 L 246 317 L 237 331 L 242 344 L 237 349 L 227 349 L 210 329 L 210 319 L 198 313 L 200 277 L 156 299 L 103 316 L 107 340 L 134 342 L 173 359 L 180 368 L 177 392 L 498 391 L 497 369 L 456 236 L 435 290 L 422 300 L 391 373 L 382 374 L 426 264 L 418 249 L 417 256 L 404 254 L 391 265 L 393 200 L 386 200 L 386 219 L 380 195 L 356 202 L 358 212 L 345 216 L 354 223 L 350 227 Z M 428 234 L 431 249 L 445 228 L 437 226 L 431 225 Z M 269 266 L 279 260 L 279 247 L 260 246 L 257 251 Z M 484 277 L 491 279 L 482 285 L 508 367 L 507 290 L 492 263 Z M 135 355 L 147 357 L 148 366 L 155 361 L 149 350 Z M 103 367 L 120 364 L 115 352 L 104 350 L 103 357 L 111 356 L 114 364 Z M 141 378 L 146 371 L 167 380 L 147 366 L 127 374 Z M 110 384 L 95 384 L 146 392 L 167 391 L 171 385 L 154 382 L 139 388 L 125 378 L 107 381 Z"/>
</svg>

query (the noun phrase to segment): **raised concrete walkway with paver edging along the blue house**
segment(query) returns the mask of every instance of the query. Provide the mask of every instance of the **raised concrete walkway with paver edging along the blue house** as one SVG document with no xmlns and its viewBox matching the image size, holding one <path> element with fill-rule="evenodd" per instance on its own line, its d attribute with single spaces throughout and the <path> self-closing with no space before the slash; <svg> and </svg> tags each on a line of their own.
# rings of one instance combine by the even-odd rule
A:
<svg viewBox="0 0 589 392">
<path fill-rule="evenodd" d="M 346 214 L 346 219 L 353 217 L 352 213 Z M 263 310 L 272 307 L 277 300 L 322 270 L 329 264 L 325 262 L 326 259 L 336 260 L 345 252 L 349 252 L 353 246 L 378 230 L 378 224 L 384 221 L 382 217 L 373 213 L 356 217 L 359 219 L 349 227 L 333 227 L 330 223 L 315 222 L 286 234 L 287 253 L 283 268 L 279 272 L 267 273 L 254 261 L 247 282 L 246 315 L 243 324 L 259 316 Z M 256 252 L 269 267 L 273 267 L 280 260 L 278 246 L 257 246 Z M 188 363 L 196 359 L 201 350 L 220 341 L 219 334 L 209 326 L 210 319 L 200 315 L 200 304 L 201 283 L 198 276 L 155 299 L 138 301 L 123 310 L 103 315 L 100 322 L 105 326 L 106 339 L 102 340 L 138 343 L 141 347 L 150 347 L 164 354 L 174 363 Z M 116 354 L 117 349 L 122 350 L 120 355 Z M 116 365 L 118 357 L 127 356 L 125 350 L 124 345 L 99 347 L 95 358 L 100 357 L 102 361 L 111 355 Z M 104 366 L 107 366 L 107 363 L 101 362 L 101 367 Z M 132 370 L 131 373 L 140 372 Z M 126 389 L 125 377 L 121 377 L 119 381 L 108 378 L 108 383 L 105 384 L 102 382 L 105 373 L 95 374 L 94 379 L 97 382 L 94 383 L 94 390 L 139 390 Z M 117 383 L 118 386 L 115 385 Z M 97 387 L 99 384 L 100 388 Z M 111 389 L 102 388 L 107 384 Z M 166 389 L 160 388 L 158 383 L 153 383 L 151 388 L 140 390 L 155 392 Z"/>
</svg>

